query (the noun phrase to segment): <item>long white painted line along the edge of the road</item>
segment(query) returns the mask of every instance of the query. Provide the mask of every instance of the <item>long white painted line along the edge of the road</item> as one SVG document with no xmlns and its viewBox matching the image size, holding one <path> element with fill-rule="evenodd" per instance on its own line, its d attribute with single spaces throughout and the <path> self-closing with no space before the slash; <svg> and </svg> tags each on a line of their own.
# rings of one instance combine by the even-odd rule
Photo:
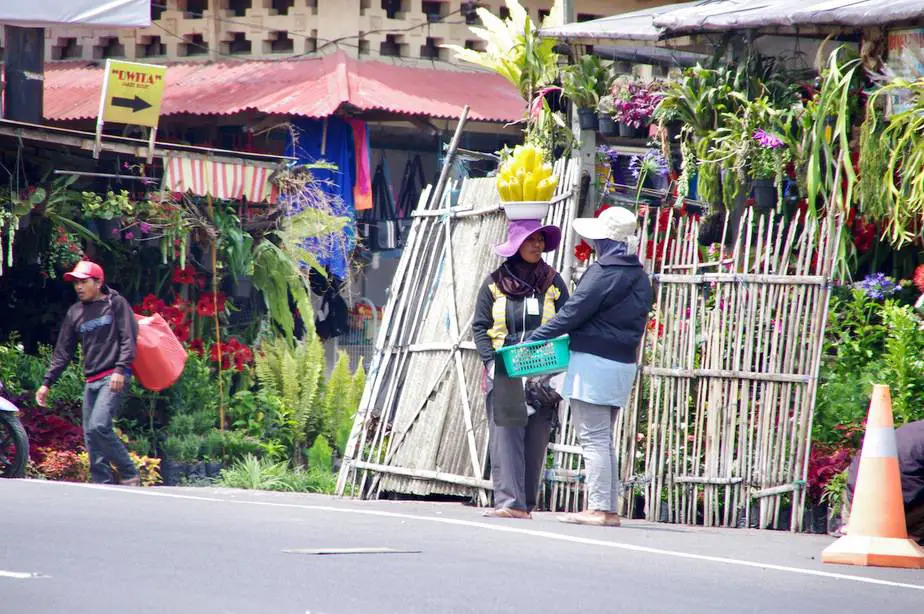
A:
<svg viewBox="0 0 924 614">
<path fill-rule="evenodd" d="M 889 586 L 893 588 L 908 588 L 917 591 L 924 591 L 924 585 L 908 584 L 905 582 L 892 582 L 891 580 L 880 580 L 879 578 L 870 578 L 868 576 L 857 576 L 852 574 L 837 573 L 831 571 L 820 571 L 817 569 L 805 569 L 803 567 L 790 567 L 787 565 L 775 565 L 773 563 L 760 563 L 757 561 L 748 561 L 745 559 L 734 559 L 722 556 L 710 556 L 707 554 L 694 554 L 692 552 L 681 552 L 678 550 L 665 550 L 663 548 L 651 548 L 648 546 L 637 546 L 635 544 L 624 544 L 620 542 L 606 541 L 602 539 L 591 539 L 588 537 L 578 537 L 576 535 L 564 535 L 553 533 L 551 531 L 537 531 L 535 529 L 522 529 L 518 527 L 501 526 L 489 524 L 486 522 L 475 522 L 472 520 L 461 520 L 457 518 L 439 518 L 436 516 L 418 516 L 415 514 L 404 514 L 400 512 L 383 512 L 380 510 L 357 510 L 330 505 L 307 505 L 301 503 L 273 503 L 270 501 L 240 501 L 237 499 L 222 499 L 218 497 L 200 497 L 196 495 L 177 495 L 173 493 L 152 492 L 150 489 L 126 488 L 104 486 L 99 484 L 78 484 L 73 482 L 51 482 L 45 480 L 22 480 L 35 484 L 57 484 L 61 486 L 73 486 L 79 488 L 90 488 L 95 490 L 105 490 L 113 493 L 124 493 L 130 495 L 142 495 L 147 497 L 161 497 L 165 499 L 189 499 L 193 501 L 206 501 L 218 503 L 237 503 L 243 505 L 257 505 L 263 507 L 281 507 L 290 509 L 304 509 L 319 512 L 339 512 L 343 514 L 360 514 L 366 516 L 379 516 L 382 518 L 399 518 L 403 520 L 422 520 L 425 522 L 437 522 L 442 524 L 452 524 L 456 526 L 475 527 L 497 531 L 500 533 L 518 533 L 520 535 L 531 535 L 544 539 L 552 539 L 574 544 L 584 544 L 588 546 L 600 546 L 604 548 L 614 548 L 617 550 L 627 550 L 630 552 L 642 552 L 645 554 L 657 554 L 679 559 L 689 559 L 694 561 L 708 561 L 711 563 L 722 563 L 725 565 L 737 565 L 739 567 L 752 567 L 755 569 L 769 569 L 786 573 L 800 574 L 804 576 L 815 576 L 819 578 L 829 578 L 832 580 L 846 580 L 848 582 L 859 582 L 861 584 L 874 584 L 877 586 Z"/>
</svg>

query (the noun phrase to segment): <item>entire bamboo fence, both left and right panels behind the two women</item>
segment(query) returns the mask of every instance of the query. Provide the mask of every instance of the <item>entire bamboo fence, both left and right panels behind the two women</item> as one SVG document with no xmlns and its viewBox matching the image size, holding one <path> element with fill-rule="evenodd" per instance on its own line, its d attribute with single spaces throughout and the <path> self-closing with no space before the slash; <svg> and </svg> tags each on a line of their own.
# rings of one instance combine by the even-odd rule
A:
<svg viewBox="0 0 924 614">
<path fill-rule="evenodd" d="M 576 162 L 561 161 L 556 172 L 576 194 Z M 464 181 L 458 207 L 428 196 L 393 284 L 338 491 L 472 496 L 486 505 L 482 367 L 470 328 L 506 220 L 492 179 Z M 546 219 L 565 231 L 549 262 L 566 280 L 577 201 L 559 200 Z M 617 421 L 621 511 L 799 530 L 838 222 L 796 223 L 753 208 L 728 214 L 727 247 L 710 259 L 697 217 L 649 211 L 640 258 L 655 302 L 637 384 Z M 567 403 L 560 412 L 545 506 L 580 510 L 581 449 Z"/>
</svg>

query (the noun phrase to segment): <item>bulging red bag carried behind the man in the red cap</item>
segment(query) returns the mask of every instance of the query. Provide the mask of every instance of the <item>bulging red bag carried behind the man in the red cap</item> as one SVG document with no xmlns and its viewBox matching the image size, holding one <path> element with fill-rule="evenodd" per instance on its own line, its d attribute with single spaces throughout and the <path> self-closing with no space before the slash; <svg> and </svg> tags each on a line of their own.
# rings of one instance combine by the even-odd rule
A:
<svg viewBox="0 0 924 614">
<path fill-rule="evenodd" d="M 160 314 L 135 314 L 135 319 L 138 343 L 132 372 L 142 386 L 160 392 L 180 378 L 186 367 L 186 350 Z"/>
</svg>

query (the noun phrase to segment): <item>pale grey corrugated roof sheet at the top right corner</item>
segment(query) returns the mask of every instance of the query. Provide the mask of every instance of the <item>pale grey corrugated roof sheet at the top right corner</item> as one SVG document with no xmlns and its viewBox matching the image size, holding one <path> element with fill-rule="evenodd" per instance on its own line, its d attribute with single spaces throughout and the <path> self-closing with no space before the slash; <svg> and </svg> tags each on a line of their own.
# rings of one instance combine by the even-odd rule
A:
<svg viewBox="0 0 924 614">
<path fill-rule="evenodd" d="M 921 0 L 703 0 L 659 15 L 654 25 L 683 34 L 774 26 L 885 26 L 921 17 Z"/>
</svg>

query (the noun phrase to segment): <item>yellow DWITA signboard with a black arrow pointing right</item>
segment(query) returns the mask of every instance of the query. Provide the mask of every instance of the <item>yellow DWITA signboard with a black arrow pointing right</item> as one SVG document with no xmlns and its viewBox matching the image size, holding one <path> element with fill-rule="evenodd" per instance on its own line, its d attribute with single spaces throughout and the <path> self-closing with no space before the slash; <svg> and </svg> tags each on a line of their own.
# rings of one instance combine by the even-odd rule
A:
<svg viewBox="0 0 924 614">
<path fill-rule="evenodd" d="M 100 119 L 156 128 L 166 73 L 164 66 L 107 60 Z"/>
</svg>

